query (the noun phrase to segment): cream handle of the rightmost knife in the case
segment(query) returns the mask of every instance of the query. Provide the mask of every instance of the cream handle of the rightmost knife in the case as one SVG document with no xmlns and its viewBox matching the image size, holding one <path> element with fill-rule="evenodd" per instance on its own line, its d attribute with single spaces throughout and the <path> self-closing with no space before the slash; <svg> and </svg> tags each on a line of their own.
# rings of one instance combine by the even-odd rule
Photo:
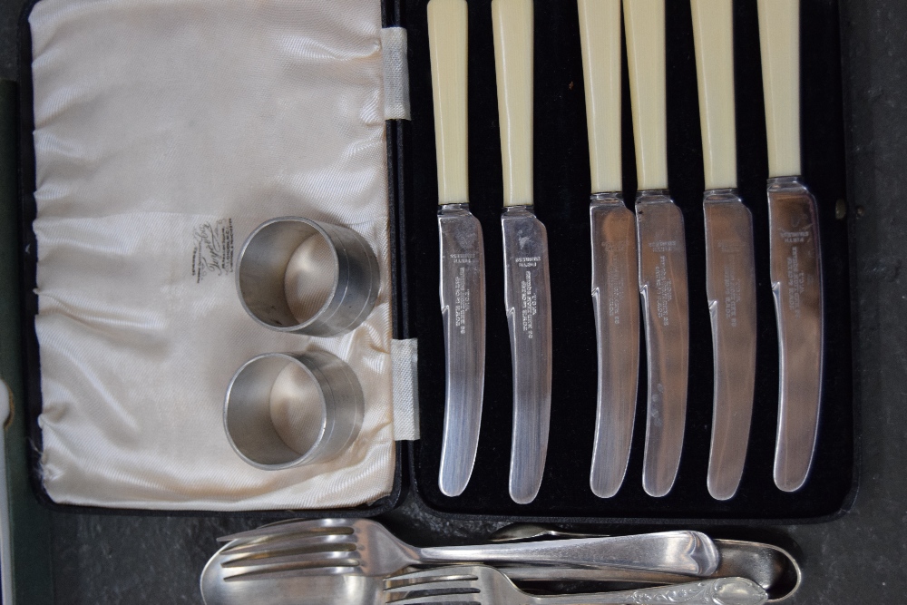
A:
<svg viewBox="0 0 907 605">
<path fill-rule="evenodd" d="M 800 2 L 758 0 L 768 176 L 800 174 Z"/>
</svg>

